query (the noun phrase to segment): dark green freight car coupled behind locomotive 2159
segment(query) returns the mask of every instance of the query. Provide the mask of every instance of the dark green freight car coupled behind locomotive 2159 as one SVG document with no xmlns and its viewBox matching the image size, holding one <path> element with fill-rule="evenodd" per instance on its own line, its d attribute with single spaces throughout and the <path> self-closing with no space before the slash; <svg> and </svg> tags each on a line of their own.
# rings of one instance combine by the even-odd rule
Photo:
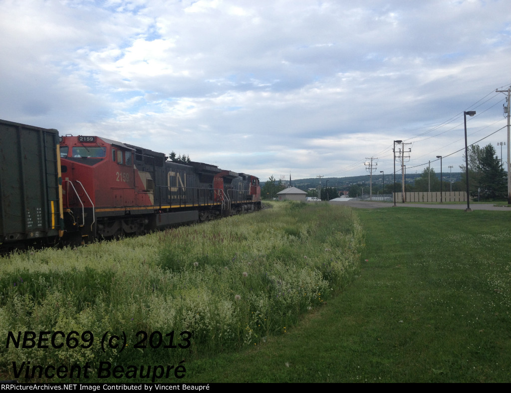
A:
<svg viewBox="0 0 511 393">
<path fill-rule="evenodd" d="M 0 251 L 62 236 L 57 130 L 0 120 Z"/>
</svg>

